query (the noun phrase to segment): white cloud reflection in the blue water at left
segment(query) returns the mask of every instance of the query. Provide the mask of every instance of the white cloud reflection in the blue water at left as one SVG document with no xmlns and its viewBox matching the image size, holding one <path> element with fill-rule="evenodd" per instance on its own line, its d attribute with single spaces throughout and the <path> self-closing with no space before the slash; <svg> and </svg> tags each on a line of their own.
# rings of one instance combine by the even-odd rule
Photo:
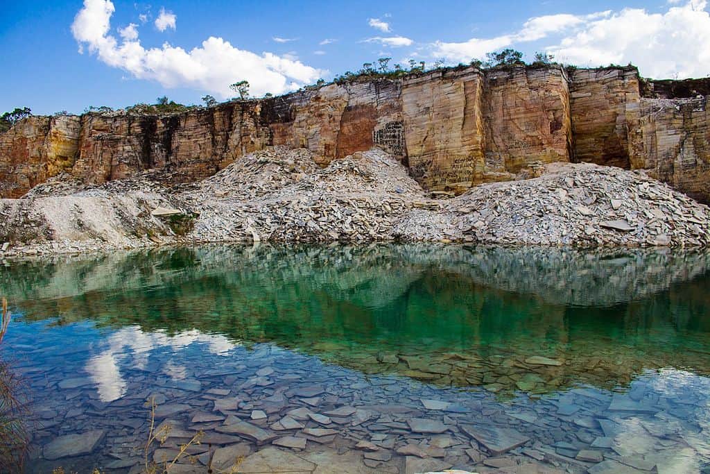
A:
<svg viewBox="0 0 710 474">
<path fill-rule="evenodd" d="M 85 367 L 98 386 L 102 402 L 112 402 L 126 394 L 128 384 L 121 375 L 121 366 L 145 370 L 153 350 L 168 348 L 172 352 L 178 352 L 199 343 L 205 345 L 207 351 L 214 355 L 226 355 L 236 345 L 222 335 L 204 334 L 196 329 L 168 335 L 163 330 L 145 333 L 138 326 L 116 330 L 107 342 L 108 348 L 91 357 Z M 187 368 L 168 361 L 163 367 L 163 373 L 173 380 L 185 379 Z"/>
</svg>

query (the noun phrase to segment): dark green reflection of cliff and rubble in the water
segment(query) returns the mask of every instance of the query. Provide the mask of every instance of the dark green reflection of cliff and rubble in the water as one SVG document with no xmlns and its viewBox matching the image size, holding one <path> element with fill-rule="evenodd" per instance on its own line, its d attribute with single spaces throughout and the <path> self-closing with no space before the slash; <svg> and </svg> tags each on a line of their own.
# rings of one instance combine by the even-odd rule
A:
<svg viewBox="0 0 710 474">
<path fill-rule="evenodd" d="M 709 268 L 706 252 L 667 250 L 207 246 L 13 262 L 0 289 L 31 320 L 197 328 L 363 372 L 547 392 L 710 372 Z"/>
</svg>

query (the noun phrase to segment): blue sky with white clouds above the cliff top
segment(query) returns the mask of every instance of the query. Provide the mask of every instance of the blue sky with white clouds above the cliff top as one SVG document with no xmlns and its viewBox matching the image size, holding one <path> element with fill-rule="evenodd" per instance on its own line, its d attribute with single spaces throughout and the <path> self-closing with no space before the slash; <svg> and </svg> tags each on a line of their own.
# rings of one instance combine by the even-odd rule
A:
<svg viewBox="0 0 710 474">
<path fill-rule="evenodd" d="M 254 95 L 283 93 L 383 56 L 456 64 L 505 47 L 704 77 L 709 11 L 704 0 L 5 1 L 0 112 L 200 103 L 241 79 Z"/>
</svg>

